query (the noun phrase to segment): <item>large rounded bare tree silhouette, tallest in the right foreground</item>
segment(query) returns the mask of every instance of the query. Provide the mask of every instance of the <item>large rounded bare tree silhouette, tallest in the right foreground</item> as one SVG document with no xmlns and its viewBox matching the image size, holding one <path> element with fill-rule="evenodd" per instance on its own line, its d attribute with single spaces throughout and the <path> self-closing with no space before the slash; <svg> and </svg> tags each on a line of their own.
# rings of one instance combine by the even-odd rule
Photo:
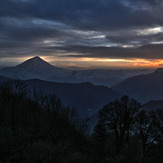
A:
<svg viewBox="0 0 163 163">
<path fill-rule="evenodd" d="M 117 149 L 120 150 L 125 139 L 127 143 L 130 141 L 139 108 L 140 104 L 128 96 L 110 102 L 99 111 L 99 122 L 95 132 L 100 132 L 97 127 L 101 126 L 105 130 L 105 135 L 114 135 Z"/>
</svg>

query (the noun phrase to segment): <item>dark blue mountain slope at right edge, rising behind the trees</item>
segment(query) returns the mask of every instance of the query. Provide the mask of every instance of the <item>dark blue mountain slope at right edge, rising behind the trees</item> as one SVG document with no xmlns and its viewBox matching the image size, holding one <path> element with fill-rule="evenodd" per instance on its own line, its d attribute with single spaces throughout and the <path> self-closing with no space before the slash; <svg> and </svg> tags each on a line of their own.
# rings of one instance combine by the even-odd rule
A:
<svg viewBox="0 0 163 163">
<path fill-rule="evenodd" d="M 163 68 L 159 68 L 150 74 L 130 77 L 112 88 L 142 103 L 150 100 L 162 100 Z"/>
</svg>

